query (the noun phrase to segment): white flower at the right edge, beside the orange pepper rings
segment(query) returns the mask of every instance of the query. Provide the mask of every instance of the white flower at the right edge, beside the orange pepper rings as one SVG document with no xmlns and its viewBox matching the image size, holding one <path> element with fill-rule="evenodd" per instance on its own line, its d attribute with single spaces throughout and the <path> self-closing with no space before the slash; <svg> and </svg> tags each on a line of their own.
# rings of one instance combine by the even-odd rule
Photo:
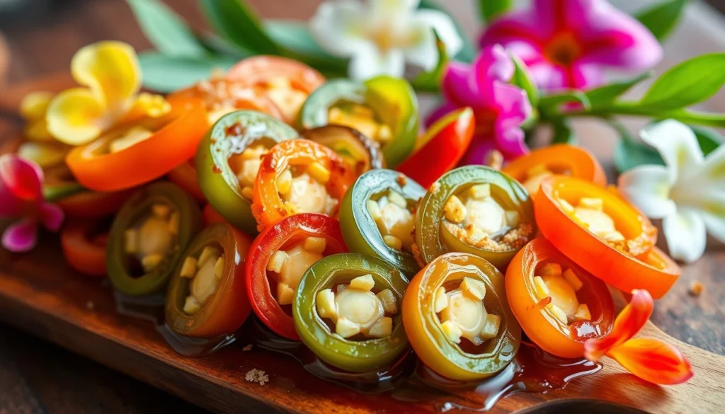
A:
<svg viewBox="0 0 725 414">
<path fill-rule="evenodd" d="M 650 218 L 661 218 L 670 254 L 694 262 L 707 233 L 725 242 L 725 146 L 703 156 L 695 133 L 676 120 L 645 128 L 642 140 L 666 166 L 641 165 L 619 177 L 619 191 Z"/>
</svg>

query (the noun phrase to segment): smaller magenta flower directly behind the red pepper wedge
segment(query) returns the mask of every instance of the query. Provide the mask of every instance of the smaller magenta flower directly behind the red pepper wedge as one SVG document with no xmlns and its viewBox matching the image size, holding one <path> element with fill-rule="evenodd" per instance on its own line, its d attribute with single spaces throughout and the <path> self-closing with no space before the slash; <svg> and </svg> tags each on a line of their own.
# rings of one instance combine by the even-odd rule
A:
<svg viewBox="0 0 725 414">
<path fill-rule="evenodd" d="M 507 83 L 513 72 L 513 62 L 500 45 L 484 48 L 471 65 L 448 65 L 442 85 L 446 102 L 428 123 L 458 108 L 473 109 L 476 133 L 461 164 L 481 164 L 491 149 L 507 158 L 529 152 L 521 123 L 531 115 L 531 103 L 521 88 Z"/>
</svg>

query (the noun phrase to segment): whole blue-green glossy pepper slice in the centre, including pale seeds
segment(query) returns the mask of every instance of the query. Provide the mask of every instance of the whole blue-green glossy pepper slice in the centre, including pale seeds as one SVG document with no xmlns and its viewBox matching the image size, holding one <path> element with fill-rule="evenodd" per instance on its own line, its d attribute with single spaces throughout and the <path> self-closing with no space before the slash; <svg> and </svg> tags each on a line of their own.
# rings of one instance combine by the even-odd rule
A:
<svg viewBox="0 0 725 414">
<path fill-rule="evenodd" d="M 426 190 L 402 173 L 371 170 L 360 175 L 340 206 L 340 225 L 352 252 L 379 257 L 406 276 L 421 270 L 413 256 L 418 201 Z"/>
</svg>

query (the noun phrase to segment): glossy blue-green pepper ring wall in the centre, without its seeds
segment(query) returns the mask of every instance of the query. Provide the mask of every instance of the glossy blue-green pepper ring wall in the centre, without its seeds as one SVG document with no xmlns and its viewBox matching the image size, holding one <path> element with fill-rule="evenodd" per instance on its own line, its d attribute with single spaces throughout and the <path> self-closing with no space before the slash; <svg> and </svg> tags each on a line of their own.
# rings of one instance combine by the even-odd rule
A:
<svg viewBox="0 0 725 414">
<path fill-rule="evenodd" d="M 384 196 L 388 191 L 403 196 L 407 209 L 413 214 L 426 194 L 418 183 L 393 170 L 370 170 L 360 175 L 340 205 L 340 225 L 344 229 L 345 244 L 352 252 L 379 257 L 406 276 L 414 276 L 421 266 L 413 253 L 389 247 L 368 209 L 368 200 L 376 201 L 376 197 Z"/>
</svg>

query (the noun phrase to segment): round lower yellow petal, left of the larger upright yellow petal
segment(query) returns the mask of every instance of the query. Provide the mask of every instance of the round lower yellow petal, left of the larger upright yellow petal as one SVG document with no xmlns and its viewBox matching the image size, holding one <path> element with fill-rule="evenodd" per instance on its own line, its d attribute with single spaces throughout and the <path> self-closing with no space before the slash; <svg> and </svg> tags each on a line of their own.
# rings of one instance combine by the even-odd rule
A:
<svg viewBox="0 0 725 414">
<path fill-rule="evenodd" d="M 81 145 L 109 127 L 106 107 L 86 88 L 72 88 L 56 96 L 46 114 L 48 131 L 58 141 Z"/>
</svg>

